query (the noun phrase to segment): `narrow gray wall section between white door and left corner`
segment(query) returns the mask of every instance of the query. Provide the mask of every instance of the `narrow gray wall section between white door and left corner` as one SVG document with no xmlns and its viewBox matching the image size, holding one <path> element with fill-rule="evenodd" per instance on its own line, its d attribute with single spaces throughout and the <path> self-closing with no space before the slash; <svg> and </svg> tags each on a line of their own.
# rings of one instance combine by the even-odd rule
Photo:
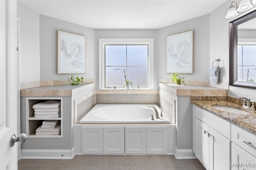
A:
<svg viewBox="0 0 256 170">
<path fill-rule="evenodd" d="M 17 2 L 20 19 L 20 82 L 40 81 L 39 14 Z"/>
</svg>

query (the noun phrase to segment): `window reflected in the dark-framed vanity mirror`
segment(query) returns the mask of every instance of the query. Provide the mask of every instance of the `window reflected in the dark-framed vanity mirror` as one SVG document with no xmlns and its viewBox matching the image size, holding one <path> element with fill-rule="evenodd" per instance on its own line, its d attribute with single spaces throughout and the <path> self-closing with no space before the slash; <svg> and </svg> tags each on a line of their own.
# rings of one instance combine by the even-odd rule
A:
<svg viewBox="0 0 256 170">
<path fill-rule="evenodd" d="M 238 42 L 237 80 L 256 82 L 256 44 Z"/>
</svg>

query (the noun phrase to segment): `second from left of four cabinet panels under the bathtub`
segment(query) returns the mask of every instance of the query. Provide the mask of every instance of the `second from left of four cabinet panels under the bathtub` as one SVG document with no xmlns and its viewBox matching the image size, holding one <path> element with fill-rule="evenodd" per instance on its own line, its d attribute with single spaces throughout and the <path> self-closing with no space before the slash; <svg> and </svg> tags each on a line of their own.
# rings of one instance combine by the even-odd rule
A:
<svg viewBox="0 0 256 170">
<path fill-rule="evenodd" d="M 103 131 L 104 153 L 124 153 L 124 127 L 104 127 Z"/>
</svg>

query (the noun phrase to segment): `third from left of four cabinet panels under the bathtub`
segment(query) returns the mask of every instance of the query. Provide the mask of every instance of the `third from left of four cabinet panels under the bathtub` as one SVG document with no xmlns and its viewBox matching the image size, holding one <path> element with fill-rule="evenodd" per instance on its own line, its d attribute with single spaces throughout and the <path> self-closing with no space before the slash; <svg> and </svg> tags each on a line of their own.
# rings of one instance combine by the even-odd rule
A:
<svg viewBox="0 0 256 170">
<path fill-rule="evenodd" d="M 146 153 L 146 127 L 125 127 L 125 153 Z"/>
</svg>

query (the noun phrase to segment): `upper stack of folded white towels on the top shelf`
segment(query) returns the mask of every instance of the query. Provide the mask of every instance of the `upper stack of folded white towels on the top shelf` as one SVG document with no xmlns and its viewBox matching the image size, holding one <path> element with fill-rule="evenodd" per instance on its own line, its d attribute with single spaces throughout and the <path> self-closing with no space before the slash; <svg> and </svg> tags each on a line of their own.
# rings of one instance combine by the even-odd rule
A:
<svg viewBox="0 0 256 170">
<path fill-rule="evenodd" d="M 34 117 L 60 117 L 60 101 L 49 100 L 32 106 Z"/>
</svg>

